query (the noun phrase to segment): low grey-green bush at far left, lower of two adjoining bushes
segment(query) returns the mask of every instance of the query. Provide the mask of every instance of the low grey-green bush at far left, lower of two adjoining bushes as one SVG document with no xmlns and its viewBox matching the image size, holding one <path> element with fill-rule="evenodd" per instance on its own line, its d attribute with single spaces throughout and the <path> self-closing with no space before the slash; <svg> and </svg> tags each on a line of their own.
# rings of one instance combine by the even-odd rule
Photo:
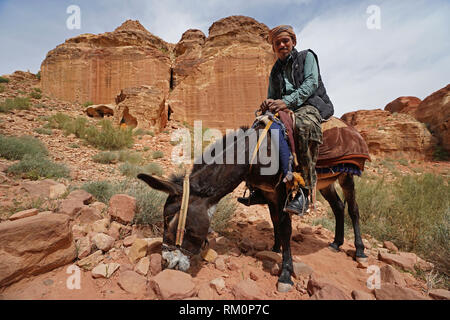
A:
<svg viewBox="0 0 450 320">
<path fill-rule="evenodd" d="M 65 165 L 54 163 L 42 155 L 27 154 L 20 162 L 8 167 L 7 172 L 31 180 L 70 177 L 70 171 Z"/>
</svg>

